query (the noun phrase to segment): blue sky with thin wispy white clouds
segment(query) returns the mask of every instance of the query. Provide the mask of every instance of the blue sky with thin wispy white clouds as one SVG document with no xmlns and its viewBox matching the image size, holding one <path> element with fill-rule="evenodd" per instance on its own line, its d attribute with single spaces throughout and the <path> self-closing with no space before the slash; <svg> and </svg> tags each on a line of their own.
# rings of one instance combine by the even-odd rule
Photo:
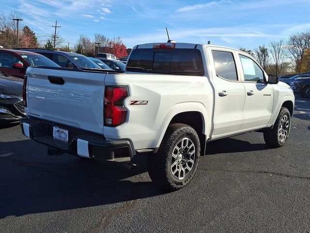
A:
<svg viewBox="0 0 310 233">
<path fill-rule="evenodd" d="M 0 0 L 0 13 L 19 11 L 46 40 L 59 34 L 73 47 L 79 34 L 120 36 L 127 48 L 165 42 L 253 49 L 310 29 L 310 0 Z"/>
</svg>

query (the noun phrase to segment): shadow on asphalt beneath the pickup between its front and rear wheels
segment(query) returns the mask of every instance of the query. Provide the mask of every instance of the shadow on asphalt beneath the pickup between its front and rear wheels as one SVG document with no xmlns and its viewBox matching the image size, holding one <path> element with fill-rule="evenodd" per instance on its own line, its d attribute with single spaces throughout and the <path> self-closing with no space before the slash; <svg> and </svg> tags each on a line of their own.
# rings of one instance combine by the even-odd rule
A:
<svg viewBox="0 0 310 233">
<path fill-rule="evenodd" d="M 253 144 L 235 138 L 224 138 L 207 143 L 206 154 L 234 153 L 245 151 L 269 150 L 264 143 Z"/>
</svg>

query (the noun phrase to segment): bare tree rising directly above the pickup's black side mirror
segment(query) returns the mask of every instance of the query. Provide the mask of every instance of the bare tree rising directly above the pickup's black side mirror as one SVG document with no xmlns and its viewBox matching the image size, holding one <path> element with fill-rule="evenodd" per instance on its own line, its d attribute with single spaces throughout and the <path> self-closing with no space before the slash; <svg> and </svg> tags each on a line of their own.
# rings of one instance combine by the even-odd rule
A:
<svg viewBox="0 0 310 233">
<path fill-rule="evenodd" d="M 284 40 L 269 42 L 269 52 L 274 61 L 276 71 L 275 75 L 279 75 L 284 67 L 286 58 L 286 46 Z"/>
</svg>

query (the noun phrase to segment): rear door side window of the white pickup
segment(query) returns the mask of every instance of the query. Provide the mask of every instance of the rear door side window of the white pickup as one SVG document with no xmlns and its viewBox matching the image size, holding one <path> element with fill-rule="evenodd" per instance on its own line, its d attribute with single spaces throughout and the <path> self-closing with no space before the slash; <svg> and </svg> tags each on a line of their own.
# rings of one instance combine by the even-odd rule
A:
<svg viewBox="0 0 310 233">
<path fill-rule="evenodd" d="M 212 51 L 217 76 L 229 81 L 238 81 L 233 53 L 227 51 Z"/>
</svg>

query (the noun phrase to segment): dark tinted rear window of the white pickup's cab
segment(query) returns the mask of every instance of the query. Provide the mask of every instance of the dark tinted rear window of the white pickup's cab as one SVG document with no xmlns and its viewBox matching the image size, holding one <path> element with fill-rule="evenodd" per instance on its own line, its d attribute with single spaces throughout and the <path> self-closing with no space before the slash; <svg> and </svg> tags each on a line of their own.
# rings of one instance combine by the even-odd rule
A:
<svg viewBox="0 0 310 233">
<path fill-rule="evenodd" d="M 196 49 L 136 49 L 130 54 L 127 71 L 202 76 L 202 55 Z"/>
</svg>

